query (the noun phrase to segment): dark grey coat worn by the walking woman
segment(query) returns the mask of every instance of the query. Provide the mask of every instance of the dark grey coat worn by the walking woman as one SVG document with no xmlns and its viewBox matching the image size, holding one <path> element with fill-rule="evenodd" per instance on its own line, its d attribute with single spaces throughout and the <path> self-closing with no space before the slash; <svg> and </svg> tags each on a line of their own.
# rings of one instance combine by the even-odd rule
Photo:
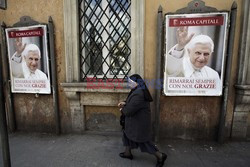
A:
<svg viewBox="0 0 250 167">
<path fill-rule="evenodd" d="M 132 92 L 122 112 L 125 115 L 126 136 L 135 142 L 151 141 L 150 102 L 145 100 L 142 89 Z"/>
</svg>

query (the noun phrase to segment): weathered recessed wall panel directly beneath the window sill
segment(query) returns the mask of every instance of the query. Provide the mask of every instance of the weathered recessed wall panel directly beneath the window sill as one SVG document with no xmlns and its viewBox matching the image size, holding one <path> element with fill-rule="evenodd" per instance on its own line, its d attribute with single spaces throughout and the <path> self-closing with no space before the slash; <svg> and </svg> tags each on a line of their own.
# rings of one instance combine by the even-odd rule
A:
<svg viewBox="0 0 250 167">
<path fill-rule="evenodd" d="M 126 100 L 127 93 L 82 93 L 85 130 L 121 131 L 120 114 L 117 104 Z"/>
</svg>

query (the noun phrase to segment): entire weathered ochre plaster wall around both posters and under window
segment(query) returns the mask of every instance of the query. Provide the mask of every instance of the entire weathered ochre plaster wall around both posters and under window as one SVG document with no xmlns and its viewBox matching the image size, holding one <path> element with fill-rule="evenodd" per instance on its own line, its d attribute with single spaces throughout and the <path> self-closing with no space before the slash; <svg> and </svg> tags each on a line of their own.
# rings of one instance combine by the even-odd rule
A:
<svg viewBox="0 0 250 167">
<path fill-rule="evenodd" d="M 186 7 L 188 2 L 190 2 L 190 0 L 145 0 L 144 75 L 146 79 L 154 79 L 156 75 L 156 25 L 159 5 L 163 7 L 163 13 L 167 13 Z M 206 0 L 205 2 L 207 6 L 213 6 L 218 10 L 230 10 L 233 0 Z M 236 0 L 236 2 L 238 4 L 238 15 L 226 117 L 227 137 L 231 132 L 235 101 L 233 85 L 236 79 L 238 62 L 237 53 L 242 0 Z M 72 130 L 72 115 L 70 113 L 68 100 L 60 85 L 60 83 L 64 83 L 66 80 L 63 36 L 63 1 L 8 0 L 7 3 L 7 10 L 0 10 L 0 21 L 4 21 L 7 26 L 11 26 L 18 22 L 19 18 L 25 15 L 31 16 L 34 20 L 43 23 L 48 22 L 49 16 L 52 16 L 54 20 L 61 125 L 62 132 L 70 132 Z M 153 89 L 150 89 L 150 91 L 154 94 Z M 218 131 L 221 100 L 220 97 L 161 96 L 161 137 L 214 139 Z M 52 95 L 40 95 L 36 98 L 33 94 L 14 94 L 14 108 L 18 129 L 47 132 L 55 130 Z M 84 107 L 84 112 L 86 129 L 100 131 L 108 129 L 116 131 L 120 128 L 118 125 L 119 114 L 117 112 L 117 107 L 86 106 Z M 109 126 L 107 126 L 109 123 L 108 121 L 112 121 L 112 124 Z"/>
</svg>

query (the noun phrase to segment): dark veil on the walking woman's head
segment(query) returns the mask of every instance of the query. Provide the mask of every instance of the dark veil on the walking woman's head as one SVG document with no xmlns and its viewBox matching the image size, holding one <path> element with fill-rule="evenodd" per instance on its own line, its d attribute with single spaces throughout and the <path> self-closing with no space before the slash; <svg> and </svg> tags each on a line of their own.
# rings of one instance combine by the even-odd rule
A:
<svg viewBox="0 0 250 167">
<path fill-rule="evenodd" d="M 131 89 L 131 91 L 129 92 L 128 97 L 136 90 L 136 89 L 142 89 L 143 93 L 144 93 L 144 99 L 146 101 L 152 102 L 153 98 L 148 90 L 147 85 L 145 84 L 144 80 L 142 79 L 142 77 L 139 74 L 133 74 L 129 77 L 129 79 L 131 79 L 132 81 L 136 82 L 138 85 L 137 87 Z"/>
</svg>

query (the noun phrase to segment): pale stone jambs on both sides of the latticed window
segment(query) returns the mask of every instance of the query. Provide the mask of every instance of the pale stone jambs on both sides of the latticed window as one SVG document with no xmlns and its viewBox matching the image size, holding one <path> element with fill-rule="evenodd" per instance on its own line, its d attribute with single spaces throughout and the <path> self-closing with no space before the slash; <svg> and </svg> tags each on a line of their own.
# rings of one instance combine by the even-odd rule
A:
<svg viewBox="0 0 250 167">
<path fill-rule="evenodd" d="M 78 0 L 64 0 L 66 82 L 80 82 Z M 131 74 L 144 77 L 145 0 L 131 1 Z"/>
</svg>

